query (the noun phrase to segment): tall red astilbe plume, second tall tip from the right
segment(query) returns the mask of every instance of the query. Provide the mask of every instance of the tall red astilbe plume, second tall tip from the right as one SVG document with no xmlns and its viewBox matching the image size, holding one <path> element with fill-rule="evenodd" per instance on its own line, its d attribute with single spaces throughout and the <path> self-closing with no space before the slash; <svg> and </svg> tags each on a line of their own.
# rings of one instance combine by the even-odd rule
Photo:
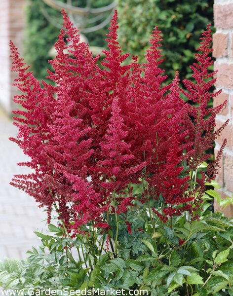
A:
<svg viewBox="0 0 233 296">
<path fill-rule="evenodd" d="M 155 143 L 155 123 L 156 116 L 160 112 L 160 104 L 166 90 L 169 86 L 162 87 L 161 83 L 166 79 L 163 76 L 163 70 L 159 68 L 162 62 L 159 47 L 161 46 L 160 31 L 155 28 L 150 40 L 151 47 L 147 50 L 147 63 L 137 64 L 134 57 L 132 83 L 129 88 L 130 100 L 126 102 L 126 108 L 129 110 L 126 118 L 129 128 L 127 140 L 131 144 L 131 150 L 138 158 L 138 162 L 150 160 L 153 154 Z M 142 77 L 142 72 L 145 73 Z M 131 99 L 132 98 L 132 99 Z M 146 153 L 145 153 L 146 152 Z M 150 165 L 151 160 L 148 161 Z"/>
</svg>

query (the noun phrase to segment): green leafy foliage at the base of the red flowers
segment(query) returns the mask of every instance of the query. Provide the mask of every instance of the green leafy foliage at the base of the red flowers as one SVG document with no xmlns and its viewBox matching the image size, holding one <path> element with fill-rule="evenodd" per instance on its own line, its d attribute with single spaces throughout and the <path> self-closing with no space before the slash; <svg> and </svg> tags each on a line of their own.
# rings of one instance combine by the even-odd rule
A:
<svg viewBox="0 0 233 296">
<path fill-rule="evenodd" d="M 128 210 L 125 218 L 135 215 L 146 222 L 141 214 L 141 209 Z M 199 221 L 187 222 L 184 213 L 172 229 L 157 221 L 154 232 L 150 227 L 146 230 L 143 223 L 144 233 L 133 230 L 133 235 L 128 234 L 123 221 L 120 224 L 117 258 L 114 250 L 104 245 L 105 236 L 94 245 L 91 230 L 89 237 L 80 234 L 71 238 L 64 236 L 62 227 L 50 224 L 49 235 L 35 232 L 42 244 L 28 252 L 26 261 L 0 262 L 0 285 L 24 289 L 25 293 L 30 288 L 50 287 L 136 289 L 153 296 L 233 295 L 233 220 L 207 211 Z M 131 238 L 136 242 L 134 252 Z"/>
</svg>

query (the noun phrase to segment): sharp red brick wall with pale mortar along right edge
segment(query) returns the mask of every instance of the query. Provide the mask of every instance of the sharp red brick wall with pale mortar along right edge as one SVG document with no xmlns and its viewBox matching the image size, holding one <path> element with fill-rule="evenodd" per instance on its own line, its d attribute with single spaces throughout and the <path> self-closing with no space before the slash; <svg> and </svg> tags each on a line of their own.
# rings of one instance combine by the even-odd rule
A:
<svg viewBox="0 0 233 296">
<path fill-rule="evenodd" d="M 228 139 L 222 167 L 217 177 L 217 182 L 222 187 L 220 193 L 226 197 L 227 195 L 232 196 L 233 192 L 233 0 L 215 0 L 214 25 L 216 28 L 216 33 L 213 35 L 213 56 L 216 58 L 214 68 L 218 69 L 216 89 L 223 90 L 215 98 L 214 106 L 225 100 L 228 101 L 226 107 L 217 115 L 217 127 L 228 118 L 230 119 L 229 125 L 217 139 L 215 148 L 216 153 L 223 139 Z M 225 214 L 233 216 L 233 206 L 228 207 Z"/>
</svg>

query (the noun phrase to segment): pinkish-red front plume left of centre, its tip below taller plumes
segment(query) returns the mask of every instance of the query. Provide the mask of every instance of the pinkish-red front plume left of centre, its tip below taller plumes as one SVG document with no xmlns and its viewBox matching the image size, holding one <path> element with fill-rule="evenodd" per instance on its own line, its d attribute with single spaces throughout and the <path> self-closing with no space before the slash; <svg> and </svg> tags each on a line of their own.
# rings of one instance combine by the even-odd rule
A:
<svg viewBox="0 0 233 296">
<path fill-rule="evenodd" d="M 88 176 L 88 161 L 93 154 L 93 150 L 90 149 L 92 140 L 86 140 L 91 128 L 83 128 L 82 119 L 70 115 L 75 103 L 69 96 L 69 86 L 69 82 L 64 79 L 57 88 L 56 106 L 51 114 L 54 120 L 48 125 L 50 141 L 44 147 L 44 158 L 53 168 L 52 174 L 46 176 L 47 181 L 53 200 L 57 203 L 59 218 L 63 220 L 67 229 L 70 218 L 74 219 L 76 211 L 63 206 L 73 202 L 72 181 L 67 176 L 71 174 L 85 180 Z M 78 184 L 81 184 L 80 181 Z M 78 185 L 76 190 L 77 188 Z M 83 185 L 81 189 L 83 190 Z"/>
</svg>

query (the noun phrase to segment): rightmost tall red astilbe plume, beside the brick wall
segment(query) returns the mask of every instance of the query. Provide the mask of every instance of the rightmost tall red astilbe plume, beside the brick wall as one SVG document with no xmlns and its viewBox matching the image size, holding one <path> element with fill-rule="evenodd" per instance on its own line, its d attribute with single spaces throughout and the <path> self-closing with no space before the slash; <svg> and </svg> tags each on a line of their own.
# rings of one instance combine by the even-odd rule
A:
<svg viewBox="0 0 233 296">
<path fill-rule="evenodd" d="M 210 72 L 208 69 L 213 65 L 213 60 L 210 57 L 210 53 L 213 51 L 211 48 L 211 30 L 210 25 L 207 26 L 206 31 L 202 33 L 200 37 L 200 46 L 197 48 L 198 53 L 195 54 L 196 62 L 190 68 L 193 71 L 193 77 L 195 82 L 188 79 L 183 81 L 188 91 L 182 90 L 183 94 L 194 102 L 194 105 L 190 107 L 190 116 L 193 119 L 192 126 L 190 126 L 189 139 L 193 142 L 193 147 L 191 151 L 191 157 L 188 160 L 188 165 L 191 170 L 196 170 L 198 166 L 210 157 L 210 154 L 206 153 L 206 150 L 213 148 L 214 140 L 221 133 L 221 131 L 226 127 L 229 119 L 216 131 L 215 127 L 215 117 L 216 114 L 226 105 L 227 101 L 222 103 L 216 108 L 208 107 L 208 103 L 211 98 L 218 96 L 221 92 L 217 91 L 215 93 L 211 92 L 211 87 L 216 82 L 214 75 L 216 72 Z M 197 179 L 197 182 L 201 186 L 203 192 L 205 181 L 210 182 L 214 179 L 217 173 L 218 161 L 221 159 L 221 154 L 223 148 L 226 145 L 226 140 L 224 141 L 216 160 L 208 166 L 207 174 L 208 178 L 204 177 L 202 173 L 202 178 Z M 206 179 L 207 178 L 207 179 Z"/>
</svg>

